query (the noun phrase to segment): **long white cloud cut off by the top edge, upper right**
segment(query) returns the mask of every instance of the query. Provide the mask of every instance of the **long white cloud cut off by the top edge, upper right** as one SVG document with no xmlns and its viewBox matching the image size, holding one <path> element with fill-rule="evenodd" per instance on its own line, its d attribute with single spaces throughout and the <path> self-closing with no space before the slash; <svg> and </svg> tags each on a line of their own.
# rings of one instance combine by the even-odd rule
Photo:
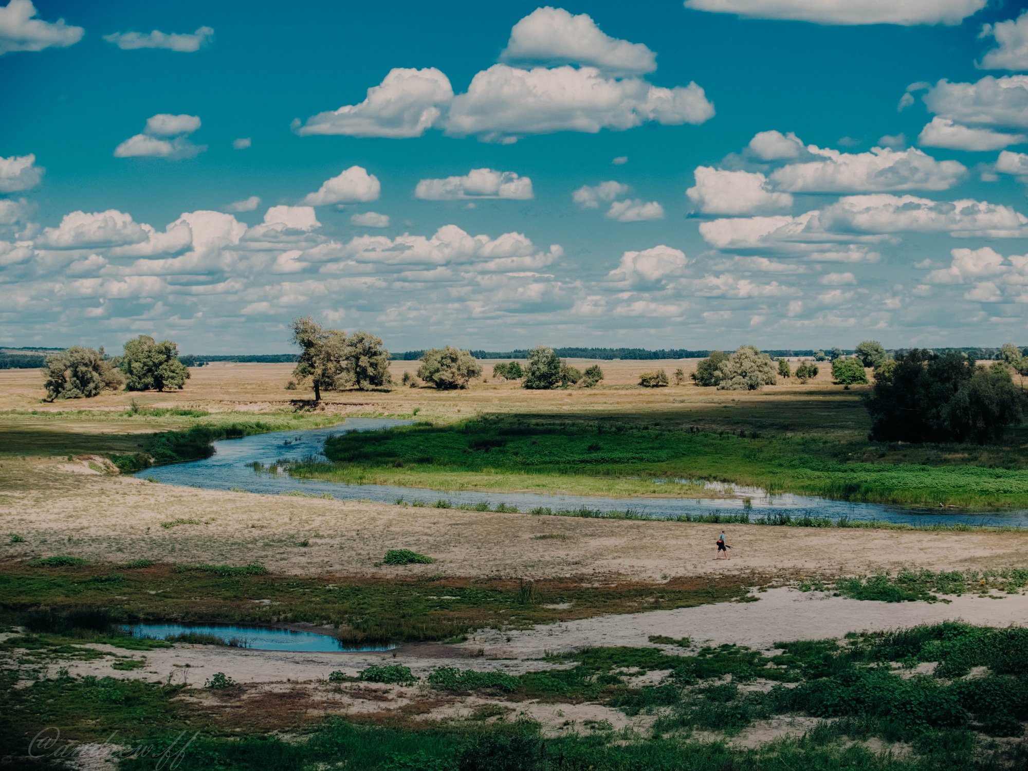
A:
<svg viewBox="0 0 1028 771">
<path fill-rule="evenodd" d="M 958 25 L 987 0 L 685 0 L 686 7 L 750 19 L 787 19 L 815 24 Z"/>
</svg>

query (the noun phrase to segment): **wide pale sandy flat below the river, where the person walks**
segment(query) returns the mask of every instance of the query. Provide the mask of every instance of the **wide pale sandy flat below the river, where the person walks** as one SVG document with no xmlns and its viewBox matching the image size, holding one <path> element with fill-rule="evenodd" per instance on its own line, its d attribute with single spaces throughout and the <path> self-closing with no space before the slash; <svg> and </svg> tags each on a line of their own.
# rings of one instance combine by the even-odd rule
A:
<svg viewBox="0 0 1028 771">
<path fill-rule="evenodd" d="M 71 554 L 96 560 L 258 561 L 297 575 L 618 576 L 862 575 L 898 567 L 1028 566 L 1028 533 L 931 533 L 731 525 L 732 559 L 714 560 L 720 525 L 618 521 L 399 507 L 204 490 L 107 476 L 87 461 L 6 458 L 4 533 L 25 543 L 6 557 Z M 24 483 L 21 481 L 24 480 Z M 201 524 L 162 528 L 195 518 Z M 558 535 L 563 539 L 537 539 Z M 310 546 L 297 544 L 308 540 Z M 380 566 L 386 550 L 435 557 L 431 565 Z"/>
</svg>

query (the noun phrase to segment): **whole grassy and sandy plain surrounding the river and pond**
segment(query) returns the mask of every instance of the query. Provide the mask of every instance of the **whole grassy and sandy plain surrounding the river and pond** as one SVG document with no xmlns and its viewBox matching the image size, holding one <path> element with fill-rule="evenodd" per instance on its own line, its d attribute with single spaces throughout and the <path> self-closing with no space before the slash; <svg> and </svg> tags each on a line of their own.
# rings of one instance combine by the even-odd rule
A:
<svg viewBox="0 0 1028 771">
<path fill-rule="evenodd" d="M 866 387 L 828 367 L 739 393 L 693 384 L 695 360 L 599 362 L 599 386 L 554 391 L 481 364 L 468 390 L 318 404 L 287 390 L 289 364 L 56 403 L 37 370 L 0 370 L 6 751 L 63 767 L 11 750 L 53 726 L 77 768 L 114 767 L 112 731 L 169 756 L 191 742 L 182 769 L 1025 767 L 1028 530 L 938 516 L 1028 508 L 1023 428 L 986 445 L 872 442 Z M 394 380 L 415 365 L 391 362 Z M 686 383 L 638 386 L 659 368 Z M 283 431 L 286 452 L 352 418 L 409 425 L 339 433 L 327 460 L 233 463 L 254 480 L 413 490 L 158 480 L 212 441 Z M 762 516 L 750 487 L 935 516 Z M 550 493 L 625 504 L 487 500 Z M 711 508 L 632 511 L 667 499 Z M 730 559 L 715 559 L 723 530 Z M 123 632 L 140 622 L 274 625 L 351 650 Z M 117 768 L 152 764 L 137 749 Z"/>
</svg>

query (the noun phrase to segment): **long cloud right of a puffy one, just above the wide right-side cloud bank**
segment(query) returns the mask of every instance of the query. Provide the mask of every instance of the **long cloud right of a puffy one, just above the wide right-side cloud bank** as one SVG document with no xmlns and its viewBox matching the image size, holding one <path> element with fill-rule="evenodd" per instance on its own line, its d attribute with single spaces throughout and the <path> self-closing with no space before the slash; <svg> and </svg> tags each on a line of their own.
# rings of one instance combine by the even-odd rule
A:
<svg viewBox="0 0 1028 771">
<path fill-rule="evenodd" d="M 771 174 L 771 182 L 777 189 L 791 192 L 948 190 L 967 172 L 956 160 L 935 160 L 917 149 L 875 147 L 861 153 L 843 153 L 813 145 L 807 149 L 817 156 L 816 159 L 791 163 Z"/>
</svg>

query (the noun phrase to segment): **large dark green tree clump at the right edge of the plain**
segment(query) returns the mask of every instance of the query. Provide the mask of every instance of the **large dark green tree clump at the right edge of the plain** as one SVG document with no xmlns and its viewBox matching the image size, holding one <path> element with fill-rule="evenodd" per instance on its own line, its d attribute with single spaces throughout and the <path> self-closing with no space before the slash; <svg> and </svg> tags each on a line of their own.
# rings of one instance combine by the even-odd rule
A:
<svg viewBox="0 0 1028 771">
<path fill-rule="evenodd" d="M 1022 400 L 1003 364 L 914 348 L 875 371 L 867 407 L 873 439 L 984 443 L 1021 421 Z"/>
</svg>

